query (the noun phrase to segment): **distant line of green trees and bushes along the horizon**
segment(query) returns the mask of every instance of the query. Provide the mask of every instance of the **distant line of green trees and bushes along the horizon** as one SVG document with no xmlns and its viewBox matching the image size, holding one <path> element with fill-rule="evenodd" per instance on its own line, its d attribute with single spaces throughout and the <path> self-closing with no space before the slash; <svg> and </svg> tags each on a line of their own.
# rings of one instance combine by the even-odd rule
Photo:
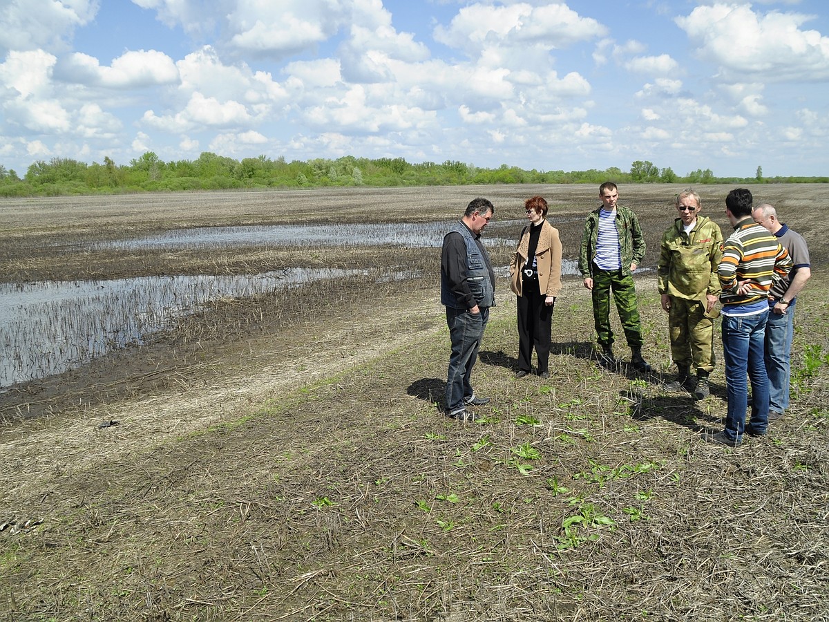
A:
<svg viewBox="0 0 829 622">
<path fill-rule="evenodd" d="M 244 158 L 241 161 L 216 153 L 201 153 L 196 160 L 163 162 L 152 151 L 118 165 L 109 157 L 104 163 L 87 164 L 71 158 L 39 160 L 24 177 L 0 165 L 0 196 L 43 197 L 125 192 L 180 192 L 231 188 L 313 188 L 313 187 L 401 187 L 459 186 L 495 183 L 594 183 L 608 180 L 633 183 L 758 183 L 829 182 L 829 177 L 763 177 L 757 168 L 754 177 L 715 177 L 709 168 L 680 177 L 671 168 L 636 161 L 628 173 L 616 167 L 604 171 L 526 171 L 502 164 L 480 168 L 454 160 L 444 163 L 408 163 L 404 158 L 317 158 L 308 162 L 286 162 L 284 157 Z"/>
</svg>

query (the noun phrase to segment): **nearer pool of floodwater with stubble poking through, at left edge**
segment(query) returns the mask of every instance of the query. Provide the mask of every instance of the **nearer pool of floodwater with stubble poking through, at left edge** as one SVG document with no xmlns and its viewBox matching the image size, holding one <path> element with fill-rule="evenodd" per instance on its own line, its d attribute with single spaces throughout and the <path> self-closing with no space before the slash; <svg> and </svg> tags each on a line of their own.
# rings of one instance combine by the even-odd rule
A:
<svg viewBox="0 0 829 622">
<path fill-rule="evenodd" d="M 114 348 L 141 343 L 211 299 L 359 273 L 291 268 L 260 275 L 0 284 L 0 387 L 65 372 Z"/>
</svg>

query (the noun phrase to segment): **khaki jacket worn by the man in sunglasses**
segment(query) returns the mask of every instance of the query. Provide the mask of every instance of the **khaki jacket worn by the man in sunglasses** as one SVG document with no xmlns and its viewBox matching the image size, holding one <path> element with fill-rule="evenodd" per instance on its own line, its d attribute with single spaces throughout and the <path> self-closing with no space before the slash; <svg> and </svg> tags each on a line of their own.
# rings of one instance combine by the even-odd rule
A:
<svg viewBox="0 0 829 622">
<path fill-rule="evenodd" d="M 723 234 L 715 221 L 698 216 L 690 234 L 682 221 L 662 234 L 657 277 L 660 294 L 688 300 L 705 299 L 706 294 L 720 295 L 717 266 L 723 251 Z"/>
</svg>

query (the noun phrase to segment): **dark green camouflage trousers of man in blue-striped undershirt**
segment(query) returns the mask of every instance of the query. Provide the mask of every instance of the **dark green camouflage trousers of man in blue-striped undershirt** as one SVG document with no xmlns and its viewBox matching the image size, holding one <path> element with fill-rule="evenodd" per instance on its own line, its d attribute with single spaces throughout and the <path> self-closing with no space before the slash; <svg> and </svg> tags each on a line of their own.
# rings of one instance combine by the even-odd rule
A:
<svg viewBox="0 0 829 622">
<path fill-rule="evenodd" d="M 610 328 L 611 292 L 628 346 L 642 347 L 642 323 L 639 321 L 633 276 L 622 275 L 621 270 L 599 270 L 594 266 L 593 319 L 596 340 L 602 347 L 613 345 L 613 329 Z"/>
</svg>

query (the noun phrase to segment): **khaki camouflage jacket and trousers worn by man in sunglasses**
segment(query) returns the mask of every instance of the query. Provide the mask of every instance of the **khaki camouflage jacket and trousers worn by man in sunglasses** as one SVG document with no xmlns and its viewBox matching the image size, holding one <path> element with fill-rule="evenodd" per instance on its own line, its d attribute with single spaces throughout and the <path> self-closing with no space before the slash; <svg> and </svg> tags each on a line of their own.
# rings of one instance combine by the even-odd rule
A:
<svg viewBox="0 0 829 622">
<path fill-rule="evenodd" d="M 706 375 L 714 370 L 716 317 L 705 313 L 706 296 L 720 295 L 717 266 L 722 243 L 720 226 L 707 216 L 697 216 L 690 234 L 677 218 L 662 234 L 657 267 L 659 293 L 671 297 L 671 357 L 677 366 L 692 367 Z"/>
</svg>

